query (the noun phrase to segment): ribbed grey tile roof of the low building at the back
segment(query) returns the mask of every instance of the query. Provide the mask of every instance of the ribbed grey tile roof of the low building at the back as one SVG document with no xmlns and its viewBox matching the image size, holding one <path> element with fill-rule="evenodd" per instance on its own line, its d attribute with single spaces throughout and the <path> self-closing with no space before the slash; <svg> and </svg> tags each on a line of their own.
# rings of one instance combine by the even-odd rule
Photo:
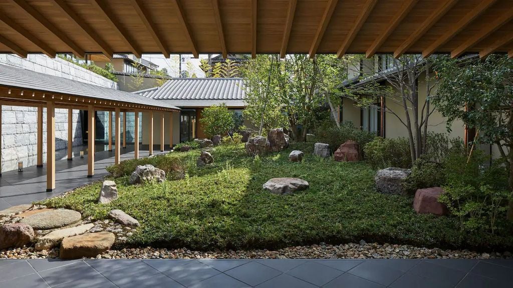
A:
<svg viewBox="0 0 513 288">
<path fill-rule="evenodd" d="M 174 78 L 159 88 L 134 93 L 152 99 L 243 101 L 242 78 Z M 182 106 L 182 105 L 179 105 Z"/>
</svg>

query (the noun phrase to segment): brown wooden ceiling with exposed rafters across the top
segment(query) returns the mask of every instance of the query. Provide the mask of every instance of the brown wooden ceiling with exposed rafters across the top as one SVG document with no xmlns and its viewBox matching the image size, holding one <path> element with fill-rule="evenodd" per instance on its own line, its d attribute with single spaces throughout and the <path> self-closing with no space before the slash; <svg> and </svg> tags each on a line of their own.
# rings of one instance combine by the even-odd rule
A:
<svg viewBox="0 0 513 288">
<path fill-rule="evenodd" d="M 508 53 L 513 0 L 0 0 L 0 53 Z"/>
</svg>

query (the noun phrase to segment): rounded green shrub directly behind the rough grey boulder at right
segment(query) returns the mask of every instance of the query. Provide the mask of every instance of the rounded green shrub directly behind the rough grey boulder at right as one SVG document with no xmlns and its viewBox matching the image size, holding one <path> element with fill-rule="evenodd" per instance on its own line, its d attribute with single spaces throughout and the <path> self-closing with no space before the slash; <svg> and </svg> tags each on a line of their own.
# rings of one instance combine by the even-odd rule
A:
<svg viewBox="0 0 513 288">
<path fill-rule="evenodd" d="M 374 169 L 411 167 L 410 145 L 404 137 L 376 137 L 365 145 L 363 151 L 365 159 Z"/>
</svg>

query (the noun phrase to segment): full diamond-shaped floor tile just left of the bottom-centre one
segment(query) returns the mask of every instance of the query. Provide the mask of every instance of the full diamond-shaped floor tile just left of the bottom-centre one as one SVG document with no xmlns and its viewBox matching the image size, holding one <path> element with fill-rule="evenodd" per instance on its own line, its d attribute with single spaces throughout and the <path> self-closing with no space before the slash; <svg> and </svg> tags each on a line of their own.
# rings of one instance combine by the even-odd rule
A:
<svg viewBox="0 0 513 288">
<path fill-rule="evenodd" d="M 221 272 L 199 261 L 193 261 L 185 265 L 174 266 L 163 273 L 184 286 L 191 286 Z"/>
</svg>

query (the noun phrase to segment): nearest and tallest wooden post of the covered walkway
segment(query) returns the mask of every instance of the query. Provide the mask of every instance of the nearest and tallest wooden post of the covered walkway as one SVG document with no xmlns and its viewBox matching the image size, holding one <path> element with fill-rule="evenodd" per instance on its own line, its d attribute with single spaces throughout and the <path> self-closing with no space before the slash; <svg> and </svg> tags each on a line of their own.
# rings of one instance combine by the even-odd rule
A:
<svg viewBox="0 0 513 288">
<path fill-rule="evenodd" d="M 46 192 L 55 189 L 55 104 L 46 102 Z"/>
</svg>

